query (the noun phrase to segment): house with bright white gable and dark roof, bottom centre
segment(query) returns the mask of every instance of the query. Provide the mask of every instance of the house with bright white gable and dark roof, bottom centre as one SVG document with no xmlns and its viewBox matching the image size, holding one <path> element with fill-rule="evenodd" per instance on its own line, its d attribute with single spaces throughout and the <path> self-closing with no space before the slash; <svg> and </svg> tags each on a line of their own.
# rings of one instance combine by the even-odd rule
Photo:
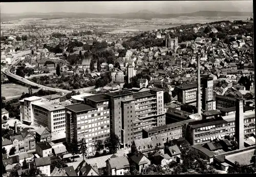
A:
<svg viewBox="0 0 256 177">
<path fill-rule="evenodd" d="M 135 151 L 133 154 L 127 154 L 127 156 L 129 157 L 131 164 L 135 164 L 135 167 L 139 172 L 142 172 L 145 167 L 151 164 L 150 160 L 139 151 Z"/>
</svg>

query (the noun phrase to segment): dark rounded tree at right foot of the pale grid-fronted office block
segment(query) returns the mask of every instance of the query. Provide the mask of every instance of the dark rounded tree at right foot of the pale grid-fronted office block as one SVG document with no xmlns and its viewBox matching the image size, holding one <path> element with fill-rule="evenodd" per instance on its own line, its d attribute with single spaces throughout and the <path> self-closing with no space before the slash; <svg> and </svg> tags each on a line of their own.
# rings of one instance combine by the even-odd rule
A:
<svg viewBox="0 0 256 177">
<path fill-rule="evenodd" d="M 120 142 L 119 138 L 116 134 L 113 132 L 110 134 L 110 137 L 106 138 L 104 141 L 105 147 L 109 150 L 111 154 L 114 154 L 117 152 L 117 149 L 119 148 Z"/>
</svg>

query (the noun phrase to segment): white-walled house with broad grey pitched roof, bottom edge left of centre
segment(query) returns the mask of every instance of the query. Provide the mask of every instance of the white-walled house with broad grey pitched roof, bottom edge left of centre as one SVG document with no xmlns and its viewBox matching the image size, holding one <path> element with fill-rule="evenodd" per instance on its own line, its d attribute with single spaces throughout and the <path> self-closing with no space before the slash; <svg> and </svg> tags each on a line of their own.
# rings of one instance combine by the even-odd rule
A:
<svg viewBox="0 0 256 177">
<path fill-rule="evenodd" d="M 117 157 L 113 155 L 106 160 L 106 171 L 108 175 L 124 175 L 130 170 L 130 163 L 126 156 Z"/>
</svg>

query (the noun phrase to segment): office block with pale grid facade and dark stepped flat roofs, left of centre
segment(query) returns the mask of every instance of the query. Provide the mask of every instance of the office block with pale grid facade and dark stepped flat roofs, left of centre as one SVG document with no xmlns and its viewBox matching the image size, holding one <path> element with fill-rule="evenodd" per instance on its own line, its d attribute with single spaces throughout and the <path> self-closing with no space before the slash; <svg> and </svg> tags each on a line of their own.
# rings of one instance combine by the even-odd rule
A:
<svg viewBox="0 0 256 177">
<path fill-rule="evenodd" d="M 83 103 L 66 106 L 66 140 L 87 142 L 88 152 L 93 151 L 94 141 L 110 134 L 109 99 L 104 94 L 84 98 Z"/>
</svg>

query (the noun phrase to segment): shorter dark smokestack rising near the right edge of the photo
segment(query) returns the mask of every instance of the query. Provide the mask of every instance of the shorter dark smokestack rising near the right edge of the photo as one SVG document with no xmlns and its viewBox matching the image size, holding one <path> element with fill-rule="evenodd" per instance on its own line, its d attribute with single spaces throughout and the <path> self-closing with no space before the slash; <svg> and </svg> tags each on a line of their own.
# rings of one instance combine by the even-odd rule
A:
<svg viewBox="0 0 256 177">
<path fill-rule="evenodd" d="M 244 147 L 244 105 L 243 99 L 237 98 L 236 101 L 236 141 L 238 142 L 238 148 Z"/>
</svg>

